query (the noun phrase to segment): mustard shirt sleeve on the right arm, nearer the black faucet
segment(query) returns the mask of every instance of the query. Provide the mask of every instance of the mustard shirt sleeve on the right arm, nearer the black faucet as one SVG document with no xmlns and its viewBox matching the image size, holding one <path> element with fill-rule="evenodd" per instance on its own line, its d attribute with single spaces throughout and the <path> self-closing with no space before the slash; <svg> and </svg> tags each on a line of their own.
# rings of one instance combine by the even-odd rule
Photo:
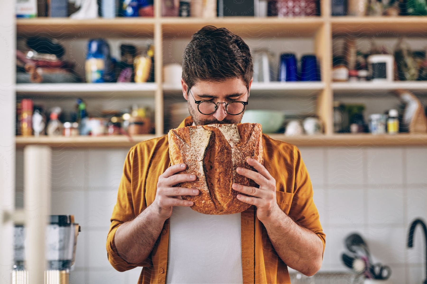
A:
<svg viewBox="0 0 427 284">
<path fill-rule="evenodd" d="M 289 216 L 300 226 L 313 231 L 322 240 L 325 252 L 326 238 L 320 224 L 319 212 L 313 201 L 313 185 L 297 147 L 294 150 L 294 172 L 294 198 Z"/>
</svg>

